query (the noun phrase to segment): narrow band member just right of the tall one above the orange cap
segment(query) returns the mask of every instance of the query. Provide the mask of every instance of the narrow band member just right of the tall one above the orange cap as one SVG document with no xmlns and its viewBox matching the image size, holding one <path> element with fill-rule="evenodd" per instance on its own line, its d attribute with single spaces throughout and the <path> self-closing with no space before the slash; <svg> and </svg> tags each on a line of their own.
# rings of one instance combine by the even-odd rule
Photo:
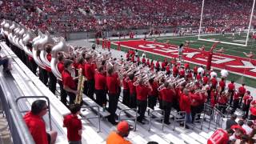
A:
<svg viewBox="0 0 256 144">
<path fill-rule="evenodd" d="M 129 85 L 127 82 L 127 74 L 123 74 L 122 78 L 122 103 L 126 106 L 130 106 L 130 90 L 129 90 Z"/>
</svg>

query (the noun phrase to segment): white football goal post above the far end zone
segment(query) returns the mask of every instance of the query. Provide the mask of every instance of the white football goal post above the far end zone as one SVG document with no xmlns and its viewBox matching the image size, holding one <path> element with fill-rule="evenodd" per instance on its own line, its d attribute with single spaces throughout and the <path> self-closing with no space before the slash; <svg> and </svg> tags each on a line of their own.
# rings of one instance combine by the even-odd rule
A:
<svg viewBox="0 0 256 144">
<path fill-rule="evenodd" d="M 254 16 L 254 5 L 255 5 L 255 1 L 253 2 L 253 6 L 250 12 L 250 22 L 249 22 L 249 26 L 246 27 L 248 30 L 246 31 L 246 42 L 244 44 L 242 43 L 236 43 L 236 42 L 224 42 L 222 40 L 213 40 L 213 39 L 209 39 L 209 38 L 202 38 L 202 22 L 203 22 L 203 11 L 205 9 L 205 1 L 206 0 L 202 0 L 202 10 L 201 10 L 201 18 L 200 18 L 200 24 L 199 24 L 199 30 L 198 30 L 198 40 L 201 41 L 206 41 L 206 42 L 220 42 L 220 43 L 225 43 L 225 44 L 230 44 L 230 45 L 235 45 L 235 46 L 247 46 L 248 45 L 248 41 L 249 41 L 249 36 L 250 36 L 250 29 L 251 29 L 251 23 L 252 23 L 252 19 Z M 203 34 L 206 35 L 206 34 Z"/>
</svg>

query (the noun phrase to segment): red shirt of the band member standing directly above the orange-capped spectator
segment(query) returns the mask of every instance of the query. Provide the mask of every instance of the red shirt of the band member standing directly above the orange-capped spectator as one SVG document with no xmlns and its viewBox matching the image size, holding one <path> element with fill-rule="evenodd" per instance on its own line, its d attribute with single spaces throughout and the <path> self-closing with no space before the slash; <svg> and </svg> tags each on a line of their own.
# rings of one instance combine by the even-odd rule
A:
<svg viewBox="0 0 256 144">
<path fill-rule="evenodd" d="M 109 94 L 118 94 L 118 78 L 114 75 L 106 76 L 106 86 Z"/>
</svg>

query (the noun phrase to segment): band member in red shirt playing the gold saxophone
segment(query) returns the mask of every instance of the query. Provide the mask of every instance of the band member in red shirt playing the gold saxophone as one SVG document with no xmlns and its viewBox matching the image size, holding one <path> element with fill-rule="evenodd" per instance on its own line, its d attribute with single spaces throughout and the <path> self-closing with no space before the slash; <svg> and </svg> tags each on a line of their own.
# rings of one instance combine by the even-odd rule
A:
<svg viewBox="0 0 256 144">
<path fill-rule="evenodd" d="M 76 97 L 76 94 L 78 93 L 77 86 L 75 83 L 75 80 L 78 79 L 78 77 L 71 77 L 71 71 L 73 70 L 72 63 L 73 61 L 66 59 L 64 61 L 65 70 L 62 71 L 63 88 L 64 90 L 66 90 L 66 93 L 70 96 L 70 104 L 74 103 L 74 99 Z"/>
</svg>

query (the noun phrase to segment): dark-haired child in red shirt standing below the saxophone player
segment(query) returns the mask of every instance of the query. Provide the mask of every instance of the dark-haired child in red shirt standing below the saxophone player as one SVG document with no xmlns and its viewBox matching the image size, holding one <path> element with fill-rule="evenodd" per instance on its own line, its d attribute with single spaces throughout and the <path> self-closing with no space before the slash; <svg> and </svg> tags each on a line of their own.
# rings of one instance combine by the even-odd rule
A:
<svg viewBox="0 0 256 144">
<path fill-rule="evenodd" d="M 67 129 L 67 139 L 70 144 L 82 144 L 82 122 L 78 119 L 81 106 L 79 104 L 70 105 L 71 114 L 66 115 L 63 121 L 63 127 Z"/>
</svg>

